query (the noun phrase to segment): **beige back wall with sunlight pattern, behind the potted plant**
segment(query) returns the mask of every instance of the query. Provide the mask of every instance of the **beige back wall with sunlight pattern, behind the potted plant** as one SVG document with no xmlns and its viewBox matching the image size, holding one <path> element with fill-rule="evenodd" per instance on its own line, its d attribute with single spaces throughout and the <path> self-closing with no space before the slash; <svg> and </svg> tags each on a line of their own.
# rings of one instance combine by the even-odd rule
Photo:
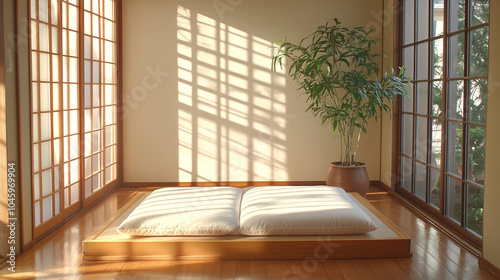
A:
<svg viewBox="0 0 500 280">
<path fill-rule="evenodd" d="M 298 42 L 334 17 L 381 27 L 381 10 L 369 0 L 124 0 L 124 181 L 325 180 L 339 142 L 270 71 L 272 42 Z M 358 160 L 379 180 L 380 123 L 368 130 Z"/>
</svg>

